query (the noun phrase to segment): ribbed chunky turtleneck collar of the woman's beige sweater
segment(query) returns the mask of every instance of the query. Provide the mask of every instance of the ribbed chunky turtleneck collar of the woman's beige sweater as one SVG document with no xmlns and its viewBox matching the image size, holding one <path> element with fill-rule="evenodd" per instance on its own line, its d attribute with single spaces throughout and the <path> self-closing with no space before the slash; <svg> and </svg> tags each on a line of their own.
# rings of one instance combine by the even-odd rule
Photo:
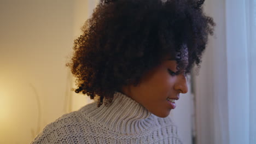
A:
<svg viewBox="0 0 256 144">
<path fill-rule="evenodd" d="M 97 107 L 96 102 L 84 109 L 86 119 L 92 123 L 121 134 L 136 134 L 153 127 L 156 116 L 135 100 L 123 93 L 115 92 L 108 106 Z"/>
</svg>

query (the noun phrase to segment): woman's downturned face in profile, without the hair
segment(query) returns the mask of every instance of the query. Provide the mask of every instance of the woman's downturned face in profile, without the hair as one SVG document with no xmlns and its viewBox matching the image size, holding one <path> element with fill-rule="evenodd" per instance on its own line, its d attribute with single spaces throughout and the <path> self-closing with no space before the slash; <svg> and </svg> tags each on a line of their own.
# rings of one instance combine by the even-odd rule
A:
<svg viewBox="0 0 256 144">
<path fill-rule="evenodd" d="M 166 60 L 158 67 L 148 71 L 135 87 L 123 87 L 123 93 L 149 112 L 158 117 L 167 117 L 179 99 L 179 93 L 187 93 L 187 79 L 184 73 L 176 74 L 176 61 Z"/>
</svg>

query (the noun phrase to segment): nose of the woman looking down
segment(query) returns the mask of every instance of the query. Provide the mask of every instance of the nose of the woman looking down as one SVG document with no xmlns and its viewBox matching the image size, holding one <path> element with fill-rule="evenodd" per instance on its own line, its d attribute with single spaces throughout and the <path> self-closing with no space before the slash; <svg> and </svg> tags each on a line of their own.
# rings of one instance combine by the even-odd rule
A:
<svg viewBox="0 0 256 144">
<path fill-rule="evenodd" d="M 187 77 L 185 75 L 178 75 L 177 81 L 174 85 L 174 89 L 179 91 L 180 93 L 187 93 L 188 92 L 188 85 L 187 85 Z"/>
</svg>

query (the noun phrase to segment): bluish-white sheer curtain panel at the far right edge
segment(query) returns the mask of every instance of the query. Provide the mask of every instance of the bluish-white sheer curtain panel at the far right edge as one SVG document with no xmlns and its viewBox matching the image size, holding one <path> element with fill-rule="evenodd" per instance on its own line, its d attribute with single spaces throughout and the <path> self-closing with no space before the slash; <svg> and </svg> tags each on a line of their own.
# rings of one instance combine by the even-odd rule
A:
<svg viewBox="0 0 256 144">
<path fill-rule="evenodd" d="M 256 143 L 255 9 L 255 0 L 226 0 L 230 143 Z"/>
</svg>

